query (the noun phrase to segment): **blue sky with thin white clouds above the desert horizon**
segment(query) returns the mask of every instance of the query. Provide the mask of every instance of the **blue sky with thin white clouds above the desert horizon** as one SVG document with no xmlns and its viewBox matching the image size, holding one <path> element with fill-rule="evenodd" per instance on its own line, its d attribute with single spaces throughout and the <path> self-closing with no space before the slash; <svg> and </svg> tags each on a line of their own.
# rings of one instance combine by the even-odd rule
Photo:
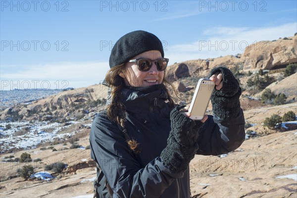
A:
<svg viewBox="0 0 297 198">
<path fill-rule="evenodd" d="M 243 53 L 297 32 L 296 0 L 0 0 L 0 89 L 87 87 L 112 46 L 145 30 L 169 64 Z"/>
</svg>

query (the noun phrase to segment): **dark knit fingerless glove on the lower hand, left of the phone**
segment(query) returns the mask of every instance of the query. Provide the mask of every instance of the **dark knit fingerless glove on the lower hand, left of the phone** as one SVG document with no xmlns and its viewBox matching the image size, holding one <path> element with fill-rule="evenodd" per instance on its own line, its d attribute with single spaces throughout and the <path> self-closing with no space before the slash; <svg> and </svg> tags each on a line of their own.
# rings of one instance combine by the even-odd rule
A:
<svg viewBox="0 0 297 198">
<path fill-rule="evenodd" d="M 198 131 L 203 125 L 202 122 L 195 122 L 183 115 L 179 111 L 181 108 L 178 106 L 170 113 L 171 131 L 168 144 L 160 155 L 164 164 L 174 173 L 187 170 L 199 148 Z"/>
</svg>

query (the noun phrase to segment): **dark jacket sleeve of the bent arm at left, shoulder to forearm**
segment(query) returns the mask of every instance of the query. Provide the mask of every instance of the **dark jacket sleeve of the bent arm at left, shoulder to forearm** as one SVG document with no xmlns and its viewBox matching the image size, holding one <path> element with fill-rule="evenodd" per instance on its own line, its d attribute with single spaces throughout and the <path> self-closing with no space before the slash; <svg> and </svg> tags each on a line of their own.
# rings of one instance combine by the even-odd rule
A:
<svg viewBox="0 0 297 198">
<path fill-rule="evenodd" d="M 92 124 L 91 157 L 97 161 L 114 198 L 160 197 L 183 173 L 172 173 L 157 157 L 141 167 L 115 123 L 100 113 Z"/>
</svg>

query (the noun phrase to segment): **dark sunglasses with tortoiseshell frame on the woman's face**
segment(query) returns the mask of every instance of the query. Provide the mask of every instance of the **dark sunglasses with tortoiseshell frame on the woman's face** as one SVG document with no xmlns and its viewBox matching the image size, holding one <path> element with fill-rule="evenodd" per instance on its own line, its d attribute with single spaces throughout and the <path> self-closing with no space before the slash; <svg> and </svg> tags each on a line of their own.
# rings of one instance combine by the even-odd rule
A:
<svg viewBox="0 0 297 198">
<path fill-rule="evenodd" d="M 148 71 L 151 68 L 152 63 L 154 62 L 157 66 L 157 70 L 163 71 L 166 69 L 168 61 L 168 58 L 159 58 L 156 60 L 151 60 L 149 58 L 137 58 L 129 60 L 128 62 L 137 62 L 137 66 L 140 71 Z"/>
</svg>

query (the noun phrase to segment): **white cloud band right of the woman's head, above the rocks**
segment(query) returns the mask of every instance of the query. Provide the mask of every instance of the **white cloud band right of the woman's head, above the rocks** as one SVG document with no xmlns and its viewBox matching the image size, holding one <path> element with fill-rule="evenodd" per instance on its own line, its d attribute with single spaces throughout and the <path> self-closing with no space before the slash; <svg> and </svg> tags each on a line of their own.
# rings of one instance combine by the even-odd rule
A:
<svg viewBox="0 0 297 198">
<path fill-rule="evenodd" d="M 297 32 L 297 23 L 287 23 L 274 27 L 248 28 L 248 27 L 214 27 L 204 31 L 205 40 L 189 44 L 168 46 L 166 56 L 170 64 L 191 59 L 215 58 L 225 55 L 243 53 L 248 45 L 260 41 L 272 41 L 279 38 L 291 37 Z M 264 45 L 258 46 L 265 48 Z"/>
</svg>

